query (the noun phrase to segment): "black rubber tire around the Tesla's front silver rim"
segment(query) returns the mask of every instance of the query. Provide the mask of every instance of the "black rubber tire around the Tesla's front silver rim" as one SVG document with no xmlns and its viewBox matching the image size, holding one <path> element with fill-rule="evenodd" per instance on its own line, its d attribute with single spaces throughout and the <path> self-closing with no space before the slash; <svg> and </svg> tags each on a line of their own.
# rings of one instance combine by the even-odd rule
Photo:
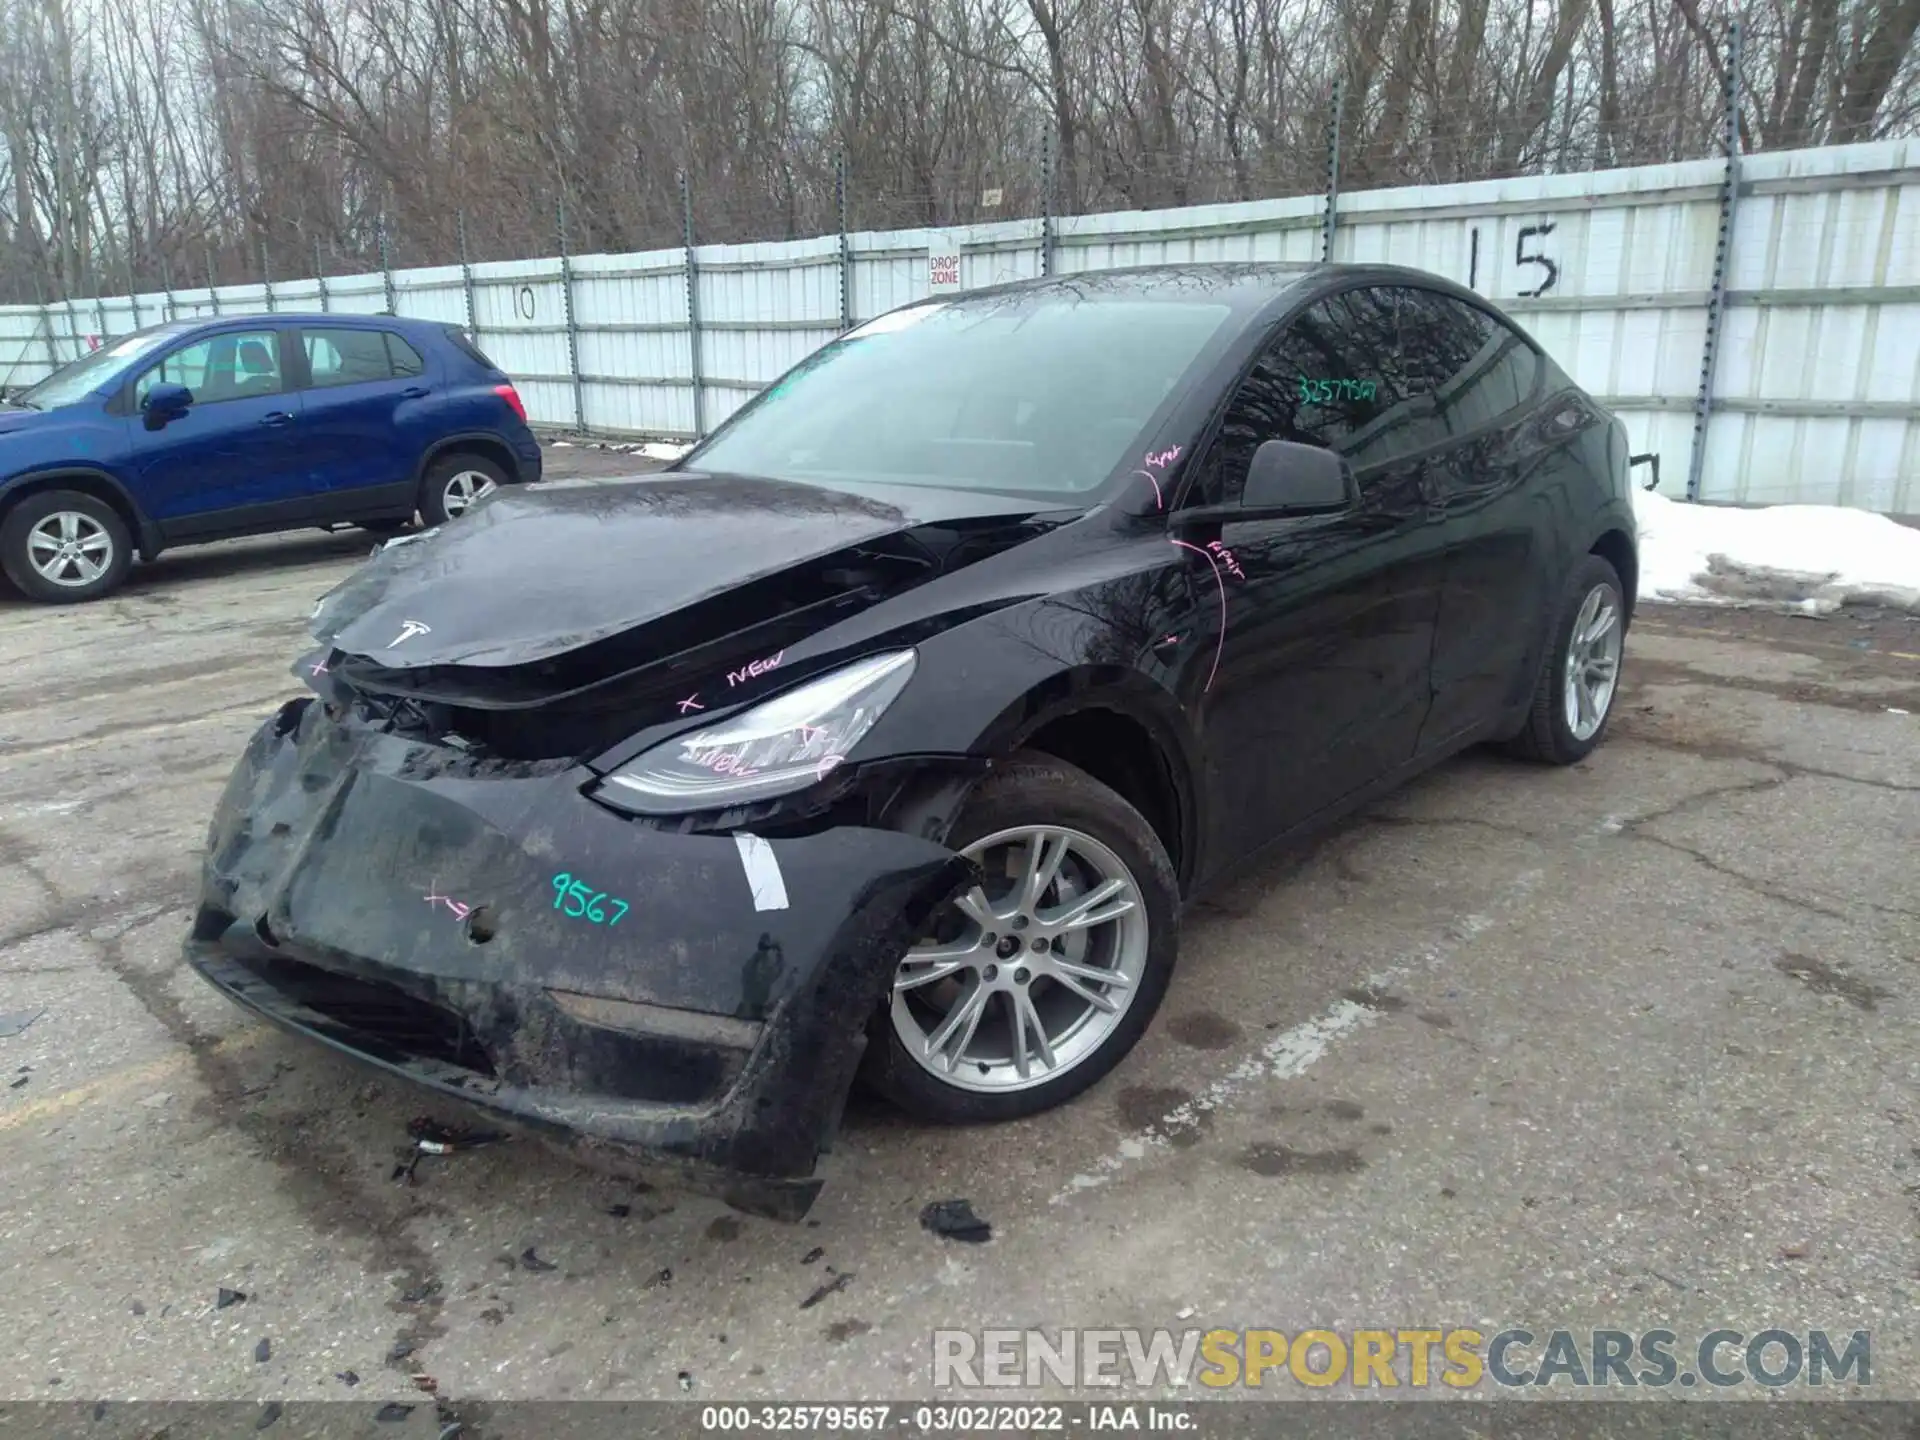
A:
<svg viewBox="0 0 1920 1440">
<path fill-rule="evenodd" d="M 1119 856 L 1131 872 L 1148 925 L 1146 958 L 1133 1002 L 1104 1041 L 1050 1081 L 1021 1091 L 968 1091 L 939 1079 L 908 1054 L 891 1018 L 889 973 L 889 995 L 870 1023 L 860 1075 L 916 1119 L 943 1125 L 993 1123 L 1071 1100 L 1133 1050 L 1167 993 L 1179 954 L 1179 881 L 1173 862 L 1140 812 L 1085 770 L 1050 755 L 1012 756 L 979 783 L 945 843 L 964 851 L 987 835 L 1035 824 L 1083 831 Z"/>
</svg>

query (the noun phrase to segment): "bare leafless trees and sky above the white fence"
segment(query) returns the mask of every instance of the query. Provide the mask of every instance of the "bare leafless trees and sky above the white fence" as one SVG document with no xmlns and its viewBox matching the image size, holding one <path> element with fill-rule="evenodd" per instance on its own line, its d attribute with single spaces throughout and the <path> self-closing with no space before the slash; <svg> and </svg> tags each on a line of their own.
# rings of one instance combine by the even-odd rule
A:
<svg viewBox="0 0 1920 1440">
<path fill-rule="evenodd" d="M 1302 194 L 1908 134 L 1920 0 L 0 0 L 0 288 Z M 998 204 L 993 204 L 998 194 Z"/>
</svg>

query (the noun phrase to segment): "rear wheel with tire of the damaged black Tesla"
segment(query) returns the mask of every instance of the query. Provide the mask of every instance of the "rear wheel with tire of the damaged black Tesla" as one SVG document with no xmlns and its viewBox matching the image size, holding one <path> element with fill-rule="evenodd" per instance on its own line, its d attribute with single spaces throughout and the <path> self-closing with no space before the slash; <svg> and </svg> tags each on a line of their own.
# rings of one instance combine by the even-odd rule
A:
<svg viewBox="0 0 1920 1440">
<path fill-rule="evenodd" d="M 1507 749 L 1526 760 L 1574 764 L 1607 735 L 1626 651 L 1626 599 L 1619 572 L 1588 555 L 1561 595 L 1526 726 Z"/>
</svg>

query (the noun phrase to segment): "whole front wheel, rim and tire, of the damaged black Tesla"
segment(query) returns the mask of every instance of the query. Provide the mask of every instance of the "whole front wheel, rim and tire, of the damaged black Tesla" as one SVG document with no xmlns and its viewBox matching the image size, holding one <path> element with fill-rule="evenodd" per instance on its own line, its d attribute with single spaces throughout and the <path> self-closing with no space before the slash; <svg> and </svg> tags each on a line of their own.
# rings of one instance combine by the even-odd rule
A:
<svg viewBox="0 0 1920 1440">
<path fill-rule="evenodd" d="M 1173 864 L 1139 810 L 1046 755 L 981 781 L 948 845 L 987 881 L 900 960 L 866 1077 L 931 1121 L 1050 1110 L 1160 1008 L 1179 950 Z"/>
</svg>

